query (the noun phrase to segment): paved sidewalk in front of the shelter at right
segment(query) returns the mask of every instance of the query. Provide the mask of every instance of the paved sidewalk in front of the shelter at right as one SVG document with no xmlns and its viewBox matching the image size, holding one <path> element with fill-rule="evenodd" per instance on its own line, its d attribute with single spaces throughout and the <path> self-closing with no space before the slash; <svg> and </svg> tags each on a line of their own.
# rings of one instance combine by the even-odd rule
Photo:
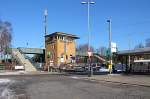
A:
<svg viewBox="0 0 150 99">
<path fill-rule="evenodd" d="M 94 75 L 92 77 L 81 77 L 81 78 L 85 80 L 150 87 L 150 75 L 108 74 L 108 75 Z"/>
</svg>

